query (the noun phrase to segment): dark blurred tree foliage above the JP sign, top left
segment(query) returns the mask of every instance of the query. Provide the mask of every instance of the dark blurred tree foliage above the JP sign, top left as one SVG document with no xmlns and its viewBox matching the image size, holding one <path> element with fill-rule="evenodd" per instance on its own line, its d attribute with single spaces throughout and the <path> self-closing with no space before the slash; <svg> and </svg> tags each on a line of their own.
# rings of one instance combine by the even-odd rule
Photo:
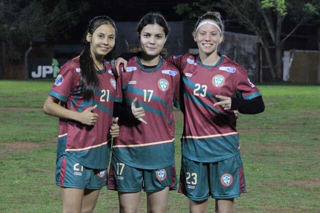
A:
<svg viewBox="0 0 320 213">
<path fill-rule="evenodd" d="M 52 40 L 75 26 L 89 5 L 67 0 L 0 0 L 0 66 L 23 59 L 31 40 Z"/>
</svg>

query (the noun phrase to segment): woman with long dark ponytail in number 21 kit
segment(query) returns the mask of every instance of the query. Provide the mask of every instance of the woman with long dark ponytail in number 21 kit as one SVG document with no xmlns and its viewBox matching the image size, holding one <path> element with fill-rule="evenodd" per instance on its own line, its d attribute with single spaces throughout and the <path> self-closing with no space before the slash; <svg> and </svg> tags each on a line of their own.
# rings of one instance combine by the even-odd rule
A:
<svg viewBox="0 0 320 213">
<path fill-rule="evenodd" d="M 118 136 L 112 118 L 116 83 L 103 60 L 114 46 L 116 28 L 108 16 L 90 20 L 80 56 L 67 61 L 47 96 L 44 113 L 59 117 L 56 185 L 62 212 L 93 212 L 106 181 L 110 142 Z M 58 104 L 60 102 L 60 104 Z"/>
</svg>

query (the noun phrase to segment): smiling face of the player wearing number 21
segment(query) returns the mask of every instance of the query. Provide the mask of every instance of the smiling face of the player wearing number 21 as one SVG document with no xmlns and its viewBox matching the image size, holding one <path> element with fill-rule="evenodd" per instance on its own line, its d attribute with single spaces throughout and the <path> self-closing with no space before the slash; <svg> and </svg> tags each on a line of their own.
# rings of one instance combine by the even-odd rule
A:
<svg viewBox="0 0 320 213">
<path fill-rule="evenodd" d="M 115 29 L 111 24 L 102 24 L 92 34 L 87 33 L 86 40 L 90 42 L 90 52 L 95 58 L 109 53 L 114 46 Z"/>
</svg>

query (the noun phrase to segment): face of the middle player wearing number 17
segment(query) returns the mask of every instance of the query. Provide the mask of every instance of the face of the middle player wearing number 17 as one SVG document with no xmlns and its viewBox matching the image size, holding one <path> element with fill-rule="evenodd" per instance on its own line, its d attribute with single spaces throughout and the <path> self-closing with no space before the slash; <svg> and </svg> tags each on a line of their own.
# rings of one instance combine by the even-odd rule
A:
<svg viewBox="0 0 320 213">
<path fill-rule="evenodd" d="M 157 23 L 145 25 L 139 38 L 142 51 L 149 56 L 159 55 L 166 41 L 163 27 Z"/>
</svg>

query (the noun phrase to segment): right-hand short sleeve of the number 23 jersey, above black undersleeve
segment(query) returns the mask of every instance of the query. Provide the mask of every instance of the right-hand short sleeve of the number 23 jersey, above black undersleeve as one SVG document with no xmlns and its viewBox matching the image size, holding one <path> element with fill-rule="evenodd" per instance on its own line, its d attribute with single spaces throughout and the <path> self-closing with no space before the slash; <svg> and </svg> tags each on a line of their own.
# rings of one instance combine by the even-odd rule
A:
<svg viewBox="0 0 320 213">
<path fill-rule="evenodd" d="M 236 96 L 243 99 L 252 99 L 258 96 L 262 96 L 261 92 L 249 79 L 244 68 L 241 68 L 236 81 Z"/>
</svg>

